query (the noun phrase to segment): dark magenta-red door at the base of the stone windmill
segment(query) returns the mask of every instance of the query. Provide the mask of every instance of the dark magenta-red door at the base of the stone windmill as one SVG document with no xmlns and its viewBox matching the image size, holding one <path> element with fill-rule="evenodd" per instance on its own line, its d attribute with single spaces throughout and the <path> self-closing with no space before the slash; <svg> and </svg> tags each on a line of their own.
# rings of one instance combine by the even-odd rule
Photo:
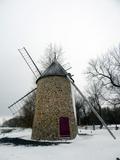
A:
<svg viewBox="0 0 120 160">
<path fill-rule="evenodd" d="M 61 137 L 70 137 L 70 127 L 69 127 L 69 118 L 68 117 L 60 117 L 60 136 Z"/>
</svg>

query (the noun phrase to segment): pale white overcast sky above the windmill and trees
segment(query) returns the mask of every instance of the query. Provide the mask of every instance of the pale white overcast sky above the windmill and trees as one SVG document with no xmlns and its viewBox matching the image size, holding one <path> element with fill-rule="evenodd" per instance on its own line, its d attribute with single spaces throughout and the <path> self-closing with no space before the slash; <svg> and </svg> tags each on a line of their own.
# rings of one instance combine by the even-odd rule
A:
<svg viewBox="0 0 120 160">
<path fill-rule="evenodd" d="M 0 0 L 0 116 L 35 86 L 17 49 L 38 63 L 50 43 L 62 46 L 83 90 L 89 60 L 120 43 L 120 0 Z"/>
</svg>

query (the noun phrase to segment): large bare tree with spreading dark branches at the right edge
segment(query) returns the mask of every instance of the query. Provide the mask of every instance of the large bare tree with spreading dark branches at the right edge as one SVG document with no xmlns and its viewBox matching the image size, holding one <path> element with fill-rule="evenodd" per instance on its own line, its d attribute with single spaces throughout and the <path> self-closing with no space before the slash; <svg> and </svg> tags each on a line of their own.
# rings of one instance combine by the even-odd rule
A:
<svg viewBox="0 0 120 160">
<path fill-rule="evenodd" d="M 102 58 L 91 60 L 87 75 L 104 88 L 107 102 L 120 105 L 120 45 Z"/>
</svg>

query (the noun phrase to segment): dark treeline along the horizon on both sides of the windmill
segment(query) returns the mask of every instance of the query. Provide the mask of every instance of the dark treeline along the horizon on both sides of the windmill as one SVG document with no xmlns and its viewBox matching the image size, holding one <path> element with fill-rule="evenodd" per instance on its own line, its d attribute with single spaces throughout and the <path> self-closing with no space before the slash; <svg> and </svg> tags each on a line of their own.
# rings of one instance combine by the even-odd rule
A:
<svg viewBox="0 0 120 160">
<path fill-rule="evenodd" d="M 31 107 L 32 106 L 32 107 Z M 22 114 L 3 123 L 3 126 L 32 128 L 34 118 L 34 107 L 32 103 L 26 102 Z M 97 110 L 99 113 L 99 110 Z M 76 114 L 78 125 L 102 125 L 90 109 L 81 108 L 81 102 L 76 103 Z M 120 107 L 102 108 L 101 117 L 107 125 L 120 124 Z"/>
</svg>

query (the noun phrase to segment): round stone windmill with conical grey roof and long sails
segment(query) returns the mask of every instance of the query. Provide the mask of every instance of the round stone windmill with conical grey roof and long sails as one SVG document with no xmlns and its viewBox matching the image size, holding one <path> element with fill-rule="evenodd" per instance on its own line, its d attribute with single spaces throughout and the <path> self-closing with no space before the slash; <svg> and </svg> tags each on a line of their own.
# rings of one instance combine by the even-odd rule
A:
<svg viewBox="0 0 120 160">
<path fill-rule="evenodd" d="M 37 79 L 37 88 L 27 93 L 8 108 L 13 111 L 13 108 L 18 103 L 21 103 L 24 98 L 37 90 L 32 139 L 60 140 L 75 138 L 77 135 L 77 124 L 71 96 L 71 86 L 84 98 L 96 117 L 115 139 L 104 120 L 76 86 L 71 75 L 57 62 L 56 56 L 53 63 L 41 73 L 25 47 L 19 49 L 19 52 Z"/>
</svg>

